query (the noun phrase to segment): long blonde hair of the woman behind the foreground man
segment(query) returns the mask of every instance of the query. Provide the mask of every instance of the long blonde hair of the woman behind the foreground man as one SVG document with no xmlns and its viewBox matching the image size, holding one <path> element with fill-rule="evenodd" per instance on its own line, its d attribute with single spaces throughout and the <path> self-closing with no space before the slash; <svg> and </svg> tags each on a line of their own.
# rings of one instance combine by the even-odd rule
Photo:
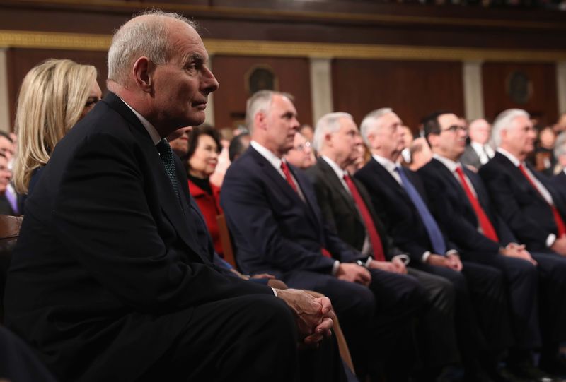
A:
<svg viewBox="0 0 566 382">
<path fill-rule="evenodd" d="M 47 59 L 25 75 L 18 95 L 18 152 L 13 184 L 28 193 L 33 171 L 49 160 L 57 142 L 81 118 L 96 68 L 69 59 Z"/>
</svg>

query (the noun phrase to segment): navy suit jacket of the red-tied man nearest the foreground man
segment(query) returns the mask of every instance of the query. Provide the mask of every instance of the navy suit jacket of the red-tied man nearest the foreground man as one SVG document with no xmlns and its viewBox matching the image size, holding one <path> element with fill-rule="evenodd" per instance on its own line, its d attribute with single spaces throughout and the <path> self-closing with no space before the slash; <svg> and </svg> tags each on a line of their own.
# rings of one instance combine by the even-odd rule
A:
<svg viewBox="0 0 566 382">
<path fill-rule="evenodd" d="M 323 247 L 340 261 L 362 258 L 323 224 L 306 175 L 292 165 L 289 169 L 305 202 L 253 147 L 226 172 L 220 203 L 243 272 L 276 277 L 294 270 L 330 274 L 334 260 L 322 255 Z"/>
</svg>

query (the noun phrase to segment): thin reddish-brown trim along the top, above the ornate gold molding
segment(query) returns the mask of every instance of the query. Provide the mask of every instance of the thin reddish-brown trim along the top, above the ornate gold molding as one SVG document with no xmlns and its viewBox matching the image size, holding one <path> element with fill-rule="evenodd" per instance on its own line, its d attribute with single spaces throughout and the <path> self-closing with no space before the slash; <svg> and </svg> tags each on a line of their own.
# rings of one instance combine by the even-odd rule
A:
<svg viewBox="0 0 566 382">
<path fill-rule="evenodd" d="M 167 11 L 183 11 L 185 13 L 216 13 L 225 16 L 253 16 L 272 17 L 279 16 L 297 19 L 318 20 L 344 20 L 344 21 L 366 21 L 372 23 L 410 23 L 410 24 L 434 24 L 434 25 L 456 25 L 456 26 L 478 26 L 497 28 L 521 28 L 521 29 L 558 29 L 566 30 L 566 25 L 559 21 L 531 21 L 531 20 L 508 20 L 466 17 L 437 17 L 437 16 L 411 16 L 411 15 L 387 15 L 383 13 L 343 13 L 329 11 L 282 11 L 268 8 L 237 8 L 229 6 L 202 6 L 191 4 L 152 2 L 152 1 L 129 1 L 129 0 L 20 0 L 21 4 L 59 4 L 71 5 L 85 8 L 88 6 L 103 6 L 107 8 L 122 8 L 142 10 L 146 8 L 161 8 Z"/>
</svg>

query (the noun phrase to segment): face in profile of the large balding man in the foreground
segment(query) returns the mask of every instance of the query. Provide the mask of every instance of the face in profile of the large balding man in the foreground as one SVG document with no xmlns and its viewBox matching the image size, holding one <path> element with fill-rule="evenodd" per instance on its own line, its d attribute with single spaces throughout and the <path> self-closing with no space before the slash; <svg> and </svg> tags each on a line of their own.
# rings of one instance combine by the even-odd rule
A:
<svg viewBox="0 0 566 382">
<path fill-rule="evenodd" d="M 205 65 L 207 49 L 198 33 L 180 20 L 166 20 L 173 56 L 154 71 L 154 109 L 158 121 L 178 129 L 204 122 L 207 97 L 218 82 Z"/>
</svg>

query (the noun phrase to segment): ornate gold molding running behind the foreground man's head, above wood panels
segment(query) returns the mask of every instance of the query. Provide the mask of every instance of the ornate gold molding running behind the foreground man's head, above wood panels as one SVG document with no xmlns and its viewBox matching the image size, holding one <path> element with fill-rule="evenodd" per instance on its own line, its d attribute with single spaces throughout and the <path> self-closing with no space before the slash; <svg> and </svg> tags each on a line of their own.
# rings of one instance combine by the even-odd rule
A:
<svg viewBox="0 0 566 382">
<path fill-rule="evenodd" d="M 110 35 L 0 30 L 0 48 L 106 51 Z M 403 45 L 331 44 L 205 39 L 209 54 L 313 59 L 398 59 L 420 61 L 566 61 L 564 50 L 476 49 Z"/>
</svg>

